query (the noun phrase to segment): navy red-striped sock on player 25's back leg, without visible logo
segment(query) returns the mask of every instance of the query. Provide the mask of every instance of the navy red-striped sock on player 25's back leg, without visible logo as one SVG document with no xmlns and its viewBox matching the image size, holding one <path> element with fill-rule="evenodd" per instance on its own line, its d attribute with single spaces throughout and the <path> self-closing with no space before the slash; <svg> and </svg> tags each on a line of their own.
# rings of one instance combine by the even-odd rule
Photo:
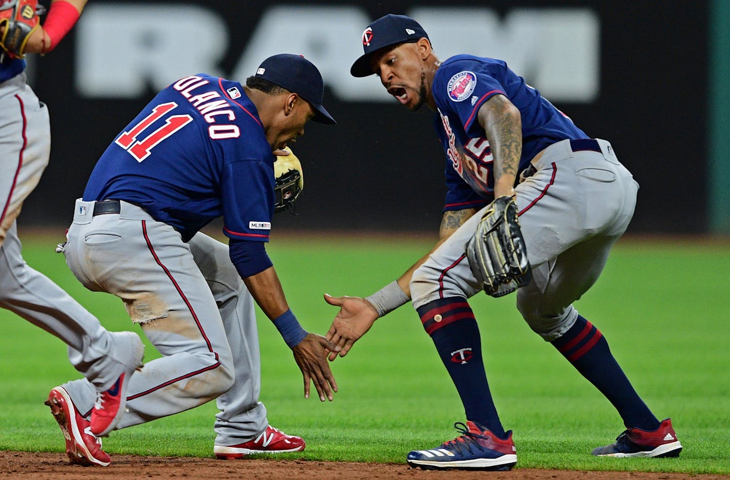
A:
<svg viewBox="0 0 730 480">
<path fill-rule="evenodd" d="M 639 398 L 602 333 L 578 315 L 563 336 L 551 342 L 612 403 L 626 427 L 656 430 L 659 421 Z"/>
</svg>

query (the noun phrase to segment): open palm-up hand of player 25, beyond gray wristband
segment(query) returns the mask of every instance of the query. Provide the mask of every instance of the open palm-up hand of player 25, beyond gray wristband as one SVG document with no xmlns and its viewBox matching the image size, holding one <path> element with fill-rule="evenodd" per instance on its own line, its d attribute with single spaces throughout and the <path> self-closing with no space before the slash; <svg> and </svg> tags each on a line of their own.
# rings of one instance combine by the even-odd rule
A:
<svg viewBox="0 0 730 480">
<path fill-rule="evenodd" d="M 377 320 L 377 311 L 361 297 L 333 297 L 325 293 L 324 299 L 330 305 L 339 306 L 337 317 L 332 320 L 326 338 L 342 348 L 339 356 L 344 357 L 353 344 L 370 330 Z M 330 349 L 329 360 L 333 361 L 335 358 L 337 352 Z"/>
</svg>

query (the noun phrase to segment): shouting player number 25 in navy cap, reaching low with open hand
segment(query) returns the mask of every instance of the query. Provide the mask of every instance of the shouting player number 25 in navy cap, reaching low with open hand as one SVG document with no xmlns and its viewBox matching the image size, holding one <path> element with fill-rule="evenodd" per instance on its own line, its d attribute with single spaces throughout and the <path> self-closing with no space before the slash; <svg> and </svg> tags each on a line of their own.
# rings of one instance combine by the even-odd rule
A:
<svg viewBox="0 0 730 480">
<path fill-rule="evenodd" d="M 515 199 L 532 267 L 531 282 L 517 293 L 518 310 L 626 425 L 614 444 L 593 454 L 676 457 L 682 446 L 671 421 L 652 414 L 602 333 L 572 306 L 596 282 L 634 213 L 638 185 L 611 144 L 591 139 L 504 61 L 472 55 L 439 61 L 412 18 L 375 20 L 363 46 L 351 74 L 376 74 L 410 110 L 428 105 L 446 153 L 448 192 L 436 247 L 367 298 L 326 296 L 341 307 L 327 335 L 342 347 L 340 356 L 378 317 L 411 300 L 456 385 L 467 419 L 455 425 L 461 436 L 410 452 L 410 465 L 507 470 L 517 462 L 512 432 L 504 431 L 492 401 L 467 303 L 483 284 L 466 261 L 465 245 L 495 198 Z"/>
</svg>

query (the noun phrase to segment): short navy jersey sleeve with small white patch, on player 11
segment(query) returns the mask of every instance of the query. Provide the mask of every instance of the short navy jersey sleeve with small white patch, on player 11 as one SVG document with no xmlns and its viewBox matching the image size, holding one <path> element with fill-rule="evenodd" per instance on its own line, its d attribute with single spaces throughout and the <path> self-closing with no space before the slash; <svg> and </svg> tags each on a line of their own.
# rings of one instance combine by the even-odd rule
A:
<svg viewBox="0 0 730 480">
<path fill-rule="evenodd" d="M 223 233 L 230 239 L 269 241 L 274 214 L 274 161 L 241 160 L 223 169 Z"/>
</svg>

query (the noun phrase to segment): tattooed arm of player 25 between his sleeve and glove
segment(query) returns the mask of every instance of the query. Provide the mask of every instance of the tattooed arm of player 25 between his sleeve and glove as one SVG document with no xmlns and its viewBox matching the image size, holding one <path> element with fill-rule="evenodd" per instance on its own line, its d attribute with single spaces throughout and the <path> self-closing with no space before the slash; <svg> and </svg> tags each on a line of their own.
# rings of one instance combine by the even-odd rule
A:
<svg viewBox="0 0 730 480">
<path fill-rule="evenodd" d="M 520 111 L 503 95 L 495 95 L 479 109 L 479 121 L 494 155 L 494 180 L 511 177 L 514 181 L 522 155 Z"/>
</svg>

